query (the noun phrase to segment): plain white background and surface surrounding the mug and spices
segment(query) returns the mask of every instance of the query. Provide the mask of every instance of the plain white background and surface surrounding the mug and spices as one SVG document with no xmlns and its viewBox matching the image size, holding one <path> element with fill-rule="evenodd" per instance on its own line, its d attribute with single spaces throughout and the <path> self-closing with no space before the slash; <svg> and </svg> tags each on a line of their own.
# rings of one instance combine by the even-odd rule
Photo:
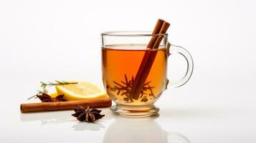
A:
<svg viewBox="0 0 256 143">
<path fill-rule="evenodd" d="M 71 111 L 24 115 L 19 104 L 40 81 L 101 84 L 100 32 L 148 31 L 158 18 L 171 23 L 171 43 L 194 58 L 191 80 L 156 103 L 161 129 L 195 143 L 256 142 L 255 6 L 249 0 L 1 0 L 0 142 L 108 142 L 116 120 L 108 109 L 102 122 L 77 125 Z M 184 65 L 180 56 L 171 57 L 171 76 L 181 76 Z"/>
</svg>

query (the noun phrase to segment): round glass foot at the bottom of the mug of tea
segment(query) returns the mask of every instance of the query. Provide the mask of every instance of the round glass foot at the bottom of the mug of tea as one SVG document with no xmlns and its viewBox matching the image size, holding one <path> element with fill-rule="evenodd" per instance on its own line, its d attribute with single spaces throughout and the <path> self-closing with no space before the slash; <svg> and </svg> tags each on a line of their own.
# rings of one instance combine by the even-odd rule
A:
<svg viewBox="0 0 256 143">
<path fill-rule="evenodd" d="M 144 107 L 129 107 L 116 104 L 110 107 L 110 110 L 115 114 L 126 117 L 149 117 L 158 115 L 159 109 L 154 105 Z"/>
</svg>

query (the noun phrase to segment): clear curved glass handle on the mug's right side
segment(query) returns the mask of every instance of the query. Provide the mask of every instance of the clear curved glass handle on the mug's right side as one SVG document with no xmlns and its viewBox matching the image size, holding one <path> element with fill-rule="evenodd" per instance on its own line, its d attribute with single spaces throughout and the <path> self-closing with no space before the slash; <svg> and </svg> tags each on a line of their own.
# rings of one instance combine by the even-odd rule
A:
<svg viewBox="0 0 256 143">
<path fill-rule="evenodd" d="M 169 79 L 167 79 L 167 84 L 166 84 L 166 89 L 181 87 L 184 84 L 186 84 L 186 82 L 189 81 L 193 73 L 194 62 L 193 62 L 192 56 L 191 54 L 189 54 L 189 51 L 186 51 L 186 49 L 182 48 L 181 46 L 175 46 L 170 43 L 167 46 L 167 54 L 169 54 L 168 56 L 170 56 L 171 54 L 181 54 L 186 59 L 186 74 L 184 75 L 184 77 L 182 77 L 178 81 L 171 81 L 171 82 L 169 81 Z"/>
</svg>

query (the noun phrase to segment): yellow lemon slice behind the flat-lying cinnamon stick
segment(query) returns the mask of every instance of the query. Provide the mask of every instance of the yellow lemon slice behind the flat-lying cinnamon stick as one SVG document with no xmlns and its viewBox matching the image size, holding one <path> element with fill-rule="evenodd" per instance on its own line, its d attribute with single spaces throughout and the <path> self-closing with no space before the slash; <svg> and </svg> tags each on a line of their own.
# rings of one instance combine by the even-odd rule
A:
<svg viewBox="0 0 256 143">
<path fill-rule="evenodd" d="M 77 84 L 56 85 L 57 94 L 64 94 L 67 100 L 94 99 L 108 97 L 103 89 L 89 82 L 78 82 Z"/>
</svg>

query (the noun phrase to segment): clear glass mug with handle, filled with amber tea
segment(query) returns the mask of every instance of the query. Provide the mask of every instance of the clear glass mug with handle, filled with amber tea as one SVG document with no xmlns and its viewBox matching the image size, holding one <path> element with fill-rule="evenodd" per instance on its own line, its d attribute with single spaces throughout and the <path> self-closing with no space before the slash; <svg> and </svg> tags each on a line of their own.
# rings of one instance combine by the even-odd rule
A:
<svg viewBox="0 0 256 143">
<path fill-rule="evenodd" d="M 151 38 L 155 38 L 153 36 L 163 37 L 158 49 L 147 48 Z M 108 97 L 115 102 L 115 106 L 110 107 L 115 114 L 158 114 L 159 109 L 153 104 L 163 91 L 181 87 L 189 81 L 194 68 L 191 55 L 181 46 L 169 44 L 167 38 L 168 34 L 151 34 L 146 31 L 110 31 L 101 34 L 103 84 Z M 145 64 L 147 66 L 141 70 L 146 54 L 151 55 L 148 56 L 151 59 L 146 61 L 151 64 Z M 186 74 L 176 82 L 167 79 L 167 61 L 171 54 L 181 54 L 187 64 Z M 136 84 L 140 85 L 137 89 Z M 134 92 L 136 90 L 137 94 Z"/>
</svg>

